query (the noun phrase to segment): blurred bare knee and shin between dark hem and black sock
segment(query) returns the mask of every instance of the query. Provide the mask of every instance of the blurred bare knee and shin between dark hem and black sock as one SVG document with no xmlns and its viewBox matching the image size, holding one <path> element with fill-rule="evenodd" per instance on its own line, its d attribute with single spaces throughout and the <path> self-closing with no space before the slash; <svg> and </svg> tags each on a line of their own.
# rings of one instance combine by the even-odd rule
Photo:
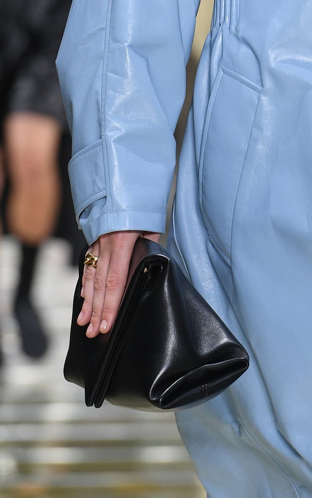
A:
<svg viewBox="0 0 312 498">
<path fill-rule="evenodd" d="M 13 113 L 4 123 L 10 177 L 7 221 L 10 231 L 38 245 L 53 231 L 59 206 L 57 152 L 61 129 L 56 120 Z"/>
</svg>

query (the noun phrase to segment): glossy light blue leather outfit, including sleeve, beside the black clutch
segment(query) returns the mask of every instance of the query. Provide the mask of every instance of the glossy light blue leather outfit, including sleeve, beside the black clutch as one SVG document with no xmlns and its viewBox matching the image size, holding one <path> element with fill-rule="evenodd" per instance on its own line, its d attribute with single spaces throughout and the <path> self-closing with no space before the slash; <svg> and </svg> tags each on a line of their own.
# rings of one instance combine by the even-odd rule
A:
<svg viewBox="0 0 312 498">
<path fill-rule="evenodd" d="M 165 229 L 198 3 L 73 1 L 57 64 L 89 243 Z M 310 0 L 215 2 L 169 247 L 251 356 L 233 387 L 177 414 L 209 497 L 311 498 Z"/>
</svg>

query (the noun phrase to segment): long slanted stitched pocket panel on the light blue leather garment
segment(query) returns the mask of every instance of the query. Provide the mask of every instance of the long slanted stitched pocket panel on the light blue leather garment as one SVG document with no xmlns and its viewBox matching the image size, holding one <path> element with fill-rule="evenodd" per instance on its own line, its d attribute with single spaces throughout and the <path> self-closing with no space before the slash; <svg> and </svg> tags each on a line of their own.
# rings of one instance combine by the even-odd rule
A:
<svg viewBox="0 0 312 498">
<path fill-rule="evenodd" d="M 261 87 L 220 67 L 203 133 L 200 207 L 209 239 L 231 264 L 232 220 Z"/>
</svg>

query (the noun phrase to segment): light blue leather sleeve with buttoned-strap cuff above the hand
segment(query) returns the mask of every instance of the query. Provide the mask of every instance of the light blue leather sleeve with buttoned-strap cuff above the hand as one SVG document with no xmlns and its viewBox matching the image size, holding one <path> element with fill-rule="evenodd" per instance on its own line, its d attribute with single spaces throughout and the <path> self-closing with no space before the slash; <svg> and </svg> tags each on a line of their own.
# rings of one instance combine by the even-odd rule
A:
<svg viewBox="0 0 312 498">
<path fill-rule="evenodd" d="M 199 0 L 73 0 L 57 58 L 77 221 L 90 244 L 165 230 Z"/>
</svg>

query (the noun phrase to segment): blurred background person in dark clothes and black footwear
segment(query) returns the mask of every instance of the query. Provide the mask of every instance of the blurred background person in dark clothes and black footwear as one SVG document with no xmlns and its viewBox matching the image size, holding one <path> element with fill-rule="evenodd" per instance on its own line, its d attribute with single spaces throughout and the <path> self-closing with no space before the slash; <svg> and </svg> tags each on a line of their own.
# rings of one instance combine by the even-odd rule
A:
<svg viewBox="0 0 312 498">
<path fill-rule="evenodd" d="M 60 206 L 58 153 L 66 128 L 55 57 L 69 0 L 0 0 L 0 140 L 8 180 L 5 225 L 21 246 L 13 312 L 22 350 L 47 348 L 30 292 L 40 245 Z"/>
</svg>

